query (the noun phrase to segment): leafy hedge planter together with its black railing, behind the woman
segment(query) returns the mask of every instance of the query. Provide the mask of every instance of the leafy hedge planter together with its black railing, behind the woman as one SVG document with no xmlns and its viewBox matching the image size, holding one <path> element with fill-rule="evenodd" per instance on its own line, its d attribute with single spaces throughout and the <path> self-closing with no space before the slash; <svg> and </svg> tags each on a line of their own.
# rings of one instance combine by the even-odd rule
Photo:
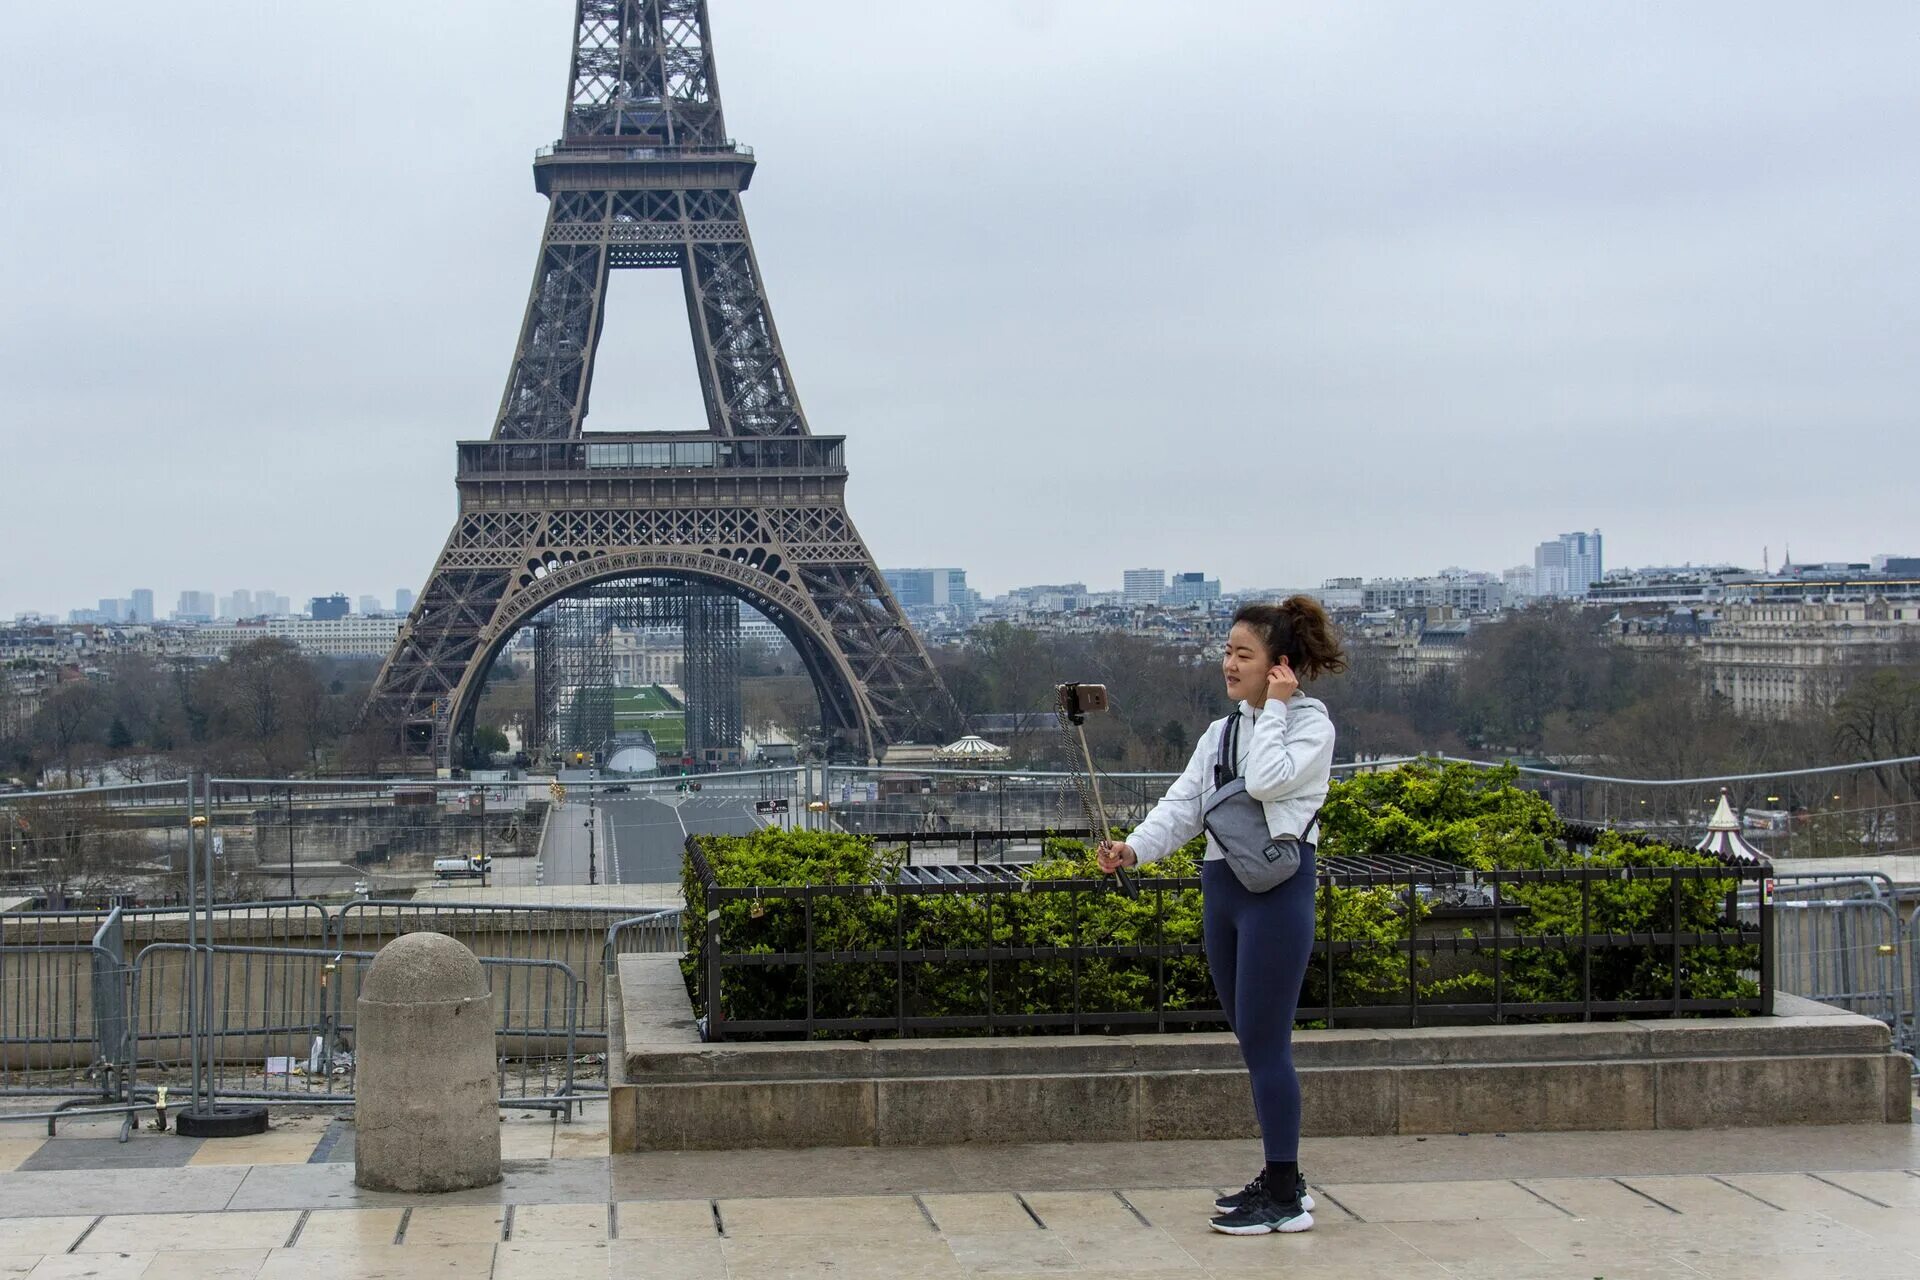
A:
<svg viewBox="0 0 1920 1280">
<path fill-rule="evenodd" d="M 1772 1007 L 1763 865 L 1569 829 L 1511 770 L 1361 775 L 1336 783 L 1325 814 L 1304 1025 Z M 1137 898 L 1114 892 L 1083 841 L 1044 850 L 1025 867 L 916 875 L 881 839 L 689 839 L 684 973 L 705 1036 L 1225 1027 L 1198 846 L 1142 867 Z"/>
</svg>

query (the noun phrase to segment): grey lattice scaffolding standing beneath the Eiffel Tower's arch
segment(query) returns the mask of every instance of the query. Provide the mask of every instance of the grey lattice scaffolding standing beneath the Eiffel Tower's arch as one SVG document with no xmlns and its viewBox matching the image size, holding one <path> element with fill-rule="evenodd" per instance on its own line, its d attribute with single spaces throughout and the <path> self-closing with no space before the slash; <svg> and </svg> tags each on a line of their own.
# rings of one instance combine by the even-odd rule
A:
<svg viewBox="0 0 1920 1280">
<path fill-rule="evenodd" d="M 701 764 L 739 760 L 739 601 L 687 580 L 626 580 L 555 601 L 534 628 L 534 741 L 545 750 L 595 752 L 618 731 L 614 687 L 649 683 L 624 674 L 614 631 L 680 639 L 687 695 L 685 754 Z"/>
</svg>

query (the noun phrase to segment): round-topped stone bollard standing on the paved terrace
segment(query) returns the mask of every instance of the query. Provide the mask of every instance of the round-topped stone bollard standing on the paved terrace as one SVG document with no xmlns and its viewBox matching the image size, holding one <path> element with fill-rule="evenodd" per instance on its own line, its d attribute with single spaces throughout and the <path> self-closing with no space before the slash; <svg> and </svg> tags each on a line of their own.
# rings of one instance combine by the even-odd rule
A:
<svg viewBox="0 0 1920 1280">
<path fill-rule="evenodd" d="M 499 1182 L 493 992 L 444 933 L 380 948 L 353 1034 L 353 1182 L 376 1192 L 461 1192 Z"/>
</svg>

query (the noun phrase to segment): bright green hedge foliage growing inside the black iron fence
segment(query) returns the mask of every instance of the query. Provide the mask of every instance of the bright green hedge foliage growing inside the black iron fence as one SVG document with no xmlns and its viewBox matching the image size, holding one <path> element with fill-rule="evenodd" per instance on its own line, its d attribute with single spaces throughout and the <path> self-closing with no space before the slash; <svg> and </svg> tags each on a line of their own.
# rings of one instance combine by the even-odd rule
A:
<svg viewBox="0 0 1920 1280">
<path fill-rule="evenodd" d="M 1513 770 L 1411 764 L 1384 773 L 1365 773 L 1334 783 L 1323 819 L 1323 852 L 1402 854 L 1434 858 L 1475 869 L 1574 867 L 1574 865 L 1716 865 L 1711 858 L 1668 846 L 1644 846 L 1605 833 L 1586 850 L 1572 850 L 1551 806 L 1515 785 Z M 985 1017 L 991 977 L 993 1011 L 1006 1015 L 1083 1011 L 1150 1011 L 1164 984 L 1169 1011 L 1217 1006 L 1202 956 L 1117 958 L 1091 956 L 1077 965 L 1066 958 L 998 960 L 987 973 L 981 960 L 950 952 L 989 946 L 1150 946 L 1200 944 L 1200 890 L 1167 881 L 1198 875 L 1204 842 L 1140 867 L 1139 898 L 1104 887 L 998 894 L 891 894 L 814 896 L 812 948 L 816 958 L 833 952 L 924 950 L 931 958 L 910 963 L 904 984 L 893 963 L 816 960 L 814 1007 L 818 1017 Z M 701 837 L 701 850 L 716 883 L 730 889 L 776 885 L 891 885 L 902 852 L 868 839 L 764 829 L 745 837 Z M 1079 841 L 1052 839 L 1043 858 L 1025 873 L 1041 881 L 1102 881 L 1092 850 Z M 705 885 L 687 860 L 687 940 L 684 971 L 705 1007 L 703 948 L 707 935 Z M 1732 892 L 1728 879 L 1682 883 L 1682 929 L 1720 927 Z M 1528 883 L 1503 887 L 1503 900 L 1524 906 L 1517 919 L 1503 919 L 1501 933 L 1578 935 L 1580 885 Z M 1332 963 L 1332 1006 L 1405 1004 L 1407 956 L 1398 942 L 1409 919 L 1417 933 L 1448 933 L 1430 919 L 1430 908 L 1404 890 L 1321 887 L 1317 931 L 1323 938 L 1350 942 Z M 1667 883 L 1607 881 L 1590 890 L 1596 933 L 1665 931 L 1670 919 Z M 1492 1000 L 1492 960 L 1476 954 L 1471 929 L 1452 927 L 1463 940 L 1440 963 L 1417 956 L 1413 983 L 1419 1000 Z M 799 954 L 806 950 L 806 917 L 799 898 L 726 900 L 720 906 L 720 944 L 728 954 Z M 1690 948 L 1682 952 L 1682 992 L 1690 998 L 1751 998 L 1755 984 L 1741 977 L 1757 965 L 1755 948 Z M 1565 1002 L 1580 998 L 1582 969 L 1576 952 L 1501 948 L 1501 998 L 1505 1002 Z M 1323 1007 L 1327 963 L 1315 956 L 1302 1007 Z M 728 965 L 722 969 L 722 1009 L 733 1021 L 781 1021 L 806 1015 L 804 965 Z M 1596 1000 L 1659 1000 L 1672 990 L 1670 956 L 1665 948 L 1620 948 L 1596 954 Z M 1515 1013 L 1521 1013 L 1519 1009 Z"/>
</svg>

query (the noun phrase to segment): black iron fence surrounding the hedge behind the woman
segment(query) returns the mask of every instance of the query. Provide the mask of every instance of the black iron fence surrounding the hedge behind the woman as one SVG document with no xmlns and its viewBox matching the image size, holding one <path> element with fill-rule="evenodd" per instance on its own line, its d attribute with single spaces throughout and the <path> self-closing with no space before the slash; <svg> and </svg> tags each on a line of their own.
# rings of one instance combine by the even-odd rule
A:
<svg viewBox="0 0 1920 1280">
<path fill-rule="evenodd" d="M 710 1040 L 1225 1027 L 1194 875 L 1140 875 L 1131 900 L 1104 879 L 973 864 L 908 865 L 889 883 L 728 887 L 697 837 L 687 856 L 705 887 L 705 923 L 689 919 L 687 933 Z M 1298 1017 L 1417 1027 L 1770 1013 L 1766 875 L 1329 858 Z"/>
</svg>

